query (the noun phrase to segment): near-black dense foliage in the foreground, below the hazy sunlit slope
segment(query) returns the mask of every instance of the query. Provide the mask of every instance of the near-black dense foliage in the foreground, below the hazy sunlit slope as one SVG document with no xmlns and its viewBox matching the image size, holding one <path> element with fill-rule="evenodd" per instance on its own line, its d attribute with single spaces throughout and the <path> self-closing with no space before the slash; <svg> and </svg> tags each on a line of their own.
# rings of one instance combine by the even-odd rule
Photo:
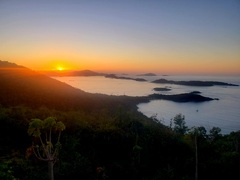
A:
<svg viewBox="0 0 240 180">
<path fill-rule="evenodd" d="M 58 111 L 25 106 L 0 109 L 1 179 L 46 179 L 47 164 L 26 151 L 34 117 L 55 116 L 64 122 L 62 149 L 54 166 L 56 179 L 194 179 L 193 134 L 119 107 L 115 113 Z M 240 132 L 222 135 L 215 128 L 198 135 L 199 178 L 231 179 L 239 176 Z"/>
</svg>

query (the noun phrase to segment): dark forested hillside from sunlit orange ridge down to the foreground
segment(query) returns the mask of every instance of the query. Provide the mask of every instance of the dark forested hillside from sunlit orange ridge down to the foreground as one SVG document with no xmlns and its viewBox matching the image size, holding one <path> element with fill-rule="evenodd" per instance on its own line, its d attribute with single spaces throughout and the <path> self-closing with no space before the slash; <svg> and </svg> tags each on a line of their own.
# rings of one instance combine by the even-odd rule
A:
<svg viewBox="0 0 240 180">
<path fill-rule="evenodd" d="M 49 178 L 28 151 L 38 143 L 29 124 L 48 117 L 66 127 L 55 179 L 240 178 L 240 131 L 188 129 L 181 114 L 166 127 L 137 111 L 139 99 L 88 94 L 14 64 L 2 65 L 0 86 L 0 179 Z"/>
</svg>

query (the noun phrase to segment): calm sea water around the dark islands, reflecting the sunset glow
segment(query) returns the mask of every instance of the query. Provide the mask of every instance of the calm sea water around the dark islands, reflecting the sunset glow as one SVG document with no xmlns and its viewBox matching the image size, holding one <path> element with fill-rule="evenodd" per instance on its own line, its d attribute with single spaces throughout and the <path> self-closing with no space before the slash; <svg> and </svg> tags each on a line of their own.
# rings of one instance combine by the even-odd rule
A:
<svg viewBox="0 0 240 180">
<path fill-rule="evenodd" d="M 121 75 L 122 76 L 122 75 Z M 185 116 L 186 125 L 221 128 L 222 134 L 240 130 L 240 86 L 191 87 L 172 84 L 154 84 L 151 81 L 165 78 L 168 80 L 203 80 L 221 81 L 240 85 L 239 76 L 131 76 L 144 78 L 147 82 L 133 80 L 109 79 L 103 76 L 90 77 L 53 77 L 73 87 L 90 93 L 108 95 L 147 96 L 152 93 L 179 94 L 200 91 L 201 95 L 219 98 L 203 103 L 176 103 L 166 100 L 154 100 L 138 105 L 138 110 L 148 117 L 156 116 L 165 125 L 181 113 Z M 171 91 L 156 92 L 155 87 L 169 87 Z"/>
</svg>

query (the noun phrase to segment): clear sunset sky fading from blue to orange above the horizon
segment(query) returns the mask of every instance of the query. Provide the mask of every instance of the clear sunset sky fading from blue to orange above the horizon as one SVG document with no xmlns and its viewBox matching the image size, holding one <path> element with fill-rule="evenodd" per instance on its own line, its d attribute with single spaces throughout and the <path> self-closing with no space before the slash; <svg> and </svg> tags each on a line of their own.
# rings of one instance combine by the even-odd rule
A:
<svg viewBox="0 0 240 180">
<path fill-rule="evenodd" d="M 34 70 L 240 74 L 240 1 L 0 0 L 0 60 Z"/>
</svg>

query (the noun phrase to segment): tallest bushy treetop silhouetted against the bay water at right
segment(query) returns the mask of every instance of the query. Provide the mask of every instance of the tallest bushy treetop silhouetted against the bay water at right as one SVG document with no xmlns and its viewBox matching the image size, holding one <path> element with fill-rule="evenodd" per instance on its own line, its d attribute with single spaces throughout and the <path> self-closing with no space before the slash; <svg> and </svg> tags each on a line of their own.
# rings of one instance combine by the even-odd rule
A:
<svg viewBox="0 0 240 180">
<path fill-rule="evenodd" d="M 174 127 L 173 130 L 181 135 L 184 135 L 187 130 L 188 127 L 185 126 L 186 122 L 185 122 L 185 116 L 180 114 L 177 114 L 174 118 L 173 118 L 173 123 L 174 123 Z"/>
</svg>

